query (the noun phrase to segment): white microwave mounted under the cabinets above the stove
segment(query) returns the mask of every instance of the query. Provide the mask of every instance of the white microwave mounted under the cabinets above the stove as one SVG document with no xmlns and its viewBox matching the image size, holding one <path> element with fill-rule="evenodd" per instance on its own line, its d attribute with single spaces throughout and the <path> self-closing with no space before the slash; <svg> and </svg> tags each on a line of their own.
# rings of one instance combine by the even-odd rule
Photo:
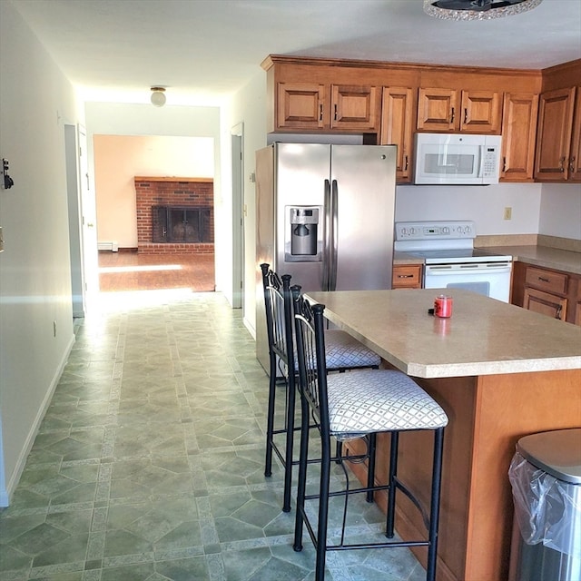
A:
<svg viewBox="0 0 581 581">
<path fill-rule="evenodd" d="M 498 183 L 500 142 L 500 135 L 416 133 L 414 182 Z"/>
</svg>

